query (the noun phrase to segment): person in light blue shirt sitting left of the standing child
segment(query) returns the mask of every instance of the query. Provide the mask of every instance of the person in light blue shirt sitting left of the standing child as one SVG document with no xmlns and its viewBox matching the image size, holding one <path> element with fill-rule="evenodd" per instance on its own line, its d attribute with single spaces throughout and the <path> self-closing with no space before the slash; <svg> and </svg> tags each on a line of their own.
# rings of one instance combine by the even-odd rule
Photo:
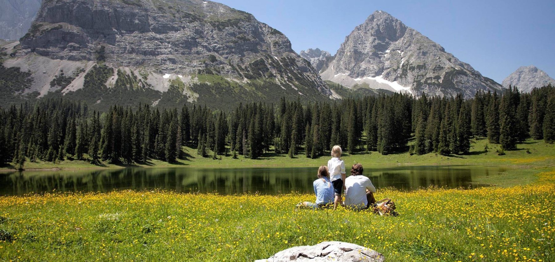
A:
<svg viewBox="0 0 555 262">
<path fill-rule="evenodd" d="M 334 204 L 334 188 L 331 187 L 329 172 L 327 167 L 322 165 L 318 169 L 318 179 L 314 180 L 314 194 L 316 194 L 316 203 L 304 201 L 297 204 L 297 208 L 322 209 L 329 208 Z"/>
</svg>

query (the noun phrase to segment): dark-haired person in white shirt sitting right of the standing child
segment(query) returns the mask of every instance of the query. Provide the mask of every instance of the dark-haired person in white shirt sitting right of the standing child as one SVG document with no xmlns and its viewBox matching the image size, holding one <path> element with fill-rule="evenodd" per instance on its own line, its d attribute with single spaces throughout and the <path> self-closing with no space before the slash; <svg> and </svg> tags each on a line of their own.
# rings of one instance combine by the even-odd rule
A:
<svg viewBox="0 0 555 262">
<path fill-rule="evenodd" d="M 362 175 L 363 170 L 361 164 L 354 164 L 351 175 L 345 179 L 345 206 L 355 210 L 368 209 L 376 203 L 376 188 L 369 178 Z"/>
</svg>

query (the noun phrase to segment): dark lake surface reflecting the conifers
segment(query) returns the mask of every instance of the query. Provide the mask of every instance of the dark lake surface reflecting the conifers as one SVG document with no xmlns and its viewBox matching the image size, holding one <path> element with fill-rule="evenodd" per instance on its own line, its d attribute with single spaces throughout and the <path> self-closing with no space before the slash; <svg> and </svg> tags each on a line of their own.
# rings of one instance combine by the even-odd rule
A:
<svg viewBox="0 0 555 262">
<path fill-rule="evenodd" d="M 376 188 L 403 190 L 430 186 L 476 188 L 482 176 L 504 172 L 493 167 L 431 166 L 365 168 Z M 127 168 L 112 170 L 14 171 L 0 174 L 0 195 L 52 192 L 109 192 L 163 189 L 184 193 L 314 193 L 317 168 Z M 347 171 L 349 173 L 349 171 Z M 347 174 L 348 176 L 349 174 Z"/>
</svg>

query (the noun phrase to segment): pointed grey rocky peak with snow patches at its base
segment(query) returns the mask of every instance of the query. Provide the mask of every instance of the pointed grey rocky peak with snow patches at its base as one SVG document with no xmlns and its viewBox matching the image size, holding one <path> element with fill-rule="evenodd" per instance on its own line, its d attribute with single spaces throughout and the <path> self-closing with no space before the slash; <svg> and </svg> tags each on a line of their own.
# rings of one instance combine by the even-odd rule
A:
<svg viewBox="0 0 555 262">
<path fill-rule="evenodd" d="M 415 95 L 462 93 L 473 97 L 478 89 L 503 88 L 383 11 L 374 12 L 355 27 L 321 75 L 347 87 Z"/>
</svg>

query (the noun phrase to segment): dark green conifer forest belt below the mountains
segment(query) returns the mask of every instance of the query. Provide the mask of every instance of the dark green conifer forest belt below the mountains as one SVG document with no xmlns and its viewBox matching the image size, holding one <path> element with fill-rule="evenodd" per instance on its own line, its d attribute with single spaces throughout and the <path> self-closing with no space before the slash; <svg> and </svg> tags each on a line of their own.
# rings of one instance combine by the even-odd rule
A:
<svg viewBox="0 0 555 262">
<path fill-rule="evenodd" d="M 335 144 L 349 153 L 377 151 L 465 154 L 474 137 L 487 137 L 503 150 L 526 138 L 555 142 L 555 88 L 520 93 L 478 92 L 419 98 L 407 94 L 302 103 L 238 104 L 223 112 L 203 106 L 159 109 L 115 106 L 90 111 L 67 99 L 0 109 L 0 162 L 65 159 L 112 163 L 174 162 L 181 146 L 196 146 L 203 157 L 232 155 L 255 159 L 266 152 L 324 155 Z M 413 143 L 409 142 L 414 140 Z"/>
</svg>

